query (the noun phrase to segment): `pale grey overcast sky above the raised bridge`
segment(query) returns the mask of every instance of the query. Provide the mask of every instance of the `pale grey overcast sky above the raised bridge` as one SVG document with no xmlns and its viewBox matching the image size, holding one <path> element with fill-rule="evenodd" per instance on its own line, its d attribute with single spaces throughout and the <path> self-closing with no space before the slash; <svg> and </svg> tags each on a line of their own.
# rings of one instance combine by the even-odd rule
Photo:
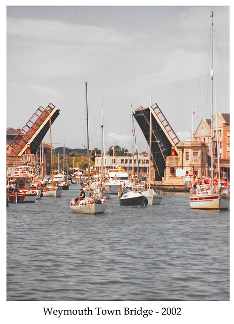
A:
<svg viewBox="0 0 234 324">
<path fill-rule="evenodd" d="M 181 141 L 210 118 L 206 52 L 214 11 L 217 111 L 229 112 L 229 7 L 8 6 L 7 127 L 23 128 L 39 106 L 61 110 L 54 147 L 131 148 L 133 110 L 157 103 Z M 140 151 L 144 136 L 135 121 Z M 49 132 L 48 132 L 49 133 Z M 44 138 L 49 142 L 49 134 Z"/>
</svg>

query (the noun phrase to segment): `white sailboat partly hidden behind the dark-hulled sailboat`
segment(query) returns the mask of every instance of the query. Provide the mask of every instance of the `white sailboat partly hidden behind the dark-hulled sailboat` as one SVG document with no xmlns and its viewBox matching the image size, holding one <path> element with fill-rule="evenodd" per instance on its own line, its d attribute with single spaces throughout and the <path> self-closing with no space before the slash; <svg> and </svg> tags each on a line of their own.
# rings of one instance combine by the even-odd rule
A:
<svg viewBox="0 0 234 324">
<path fill-rule="evenodd" d="M 149 151 L 150 151 L 150 162 L 151 162 L 151 142 L 152 142 L 152 113 L 151 113 L 151 96 L 150 96 L 150 107 L 149 107 Z M 157 192 L 150 187 L 151 179 L 151 163 L 149 163 L 149 185 L 148 189 L 144 190 L 142 194 L 148 199 L 149 205 L 159 205 L 162 201 L 162 191 L 158 190 Z"/>
</svg>

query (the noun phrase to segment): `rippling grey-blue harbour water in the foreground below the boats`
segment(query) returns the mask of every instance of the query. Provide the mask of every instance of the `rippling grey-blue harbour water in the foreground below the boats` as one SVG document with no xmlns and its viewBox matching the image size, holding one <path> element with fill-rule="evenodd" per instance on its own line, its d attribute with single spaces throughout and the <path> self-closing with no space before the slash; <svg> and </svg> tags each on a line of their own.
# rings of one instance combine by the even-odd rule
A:
<svg viewBox="0 0 234 324">
<path fill-rule="evenodd" d="M 229 212 L 189 208 L 186 193 L 146 208 L 111 195 L 100 215 L 61 198 L 10 204 L 8 300 L 229 300 Z"/>
</svg>

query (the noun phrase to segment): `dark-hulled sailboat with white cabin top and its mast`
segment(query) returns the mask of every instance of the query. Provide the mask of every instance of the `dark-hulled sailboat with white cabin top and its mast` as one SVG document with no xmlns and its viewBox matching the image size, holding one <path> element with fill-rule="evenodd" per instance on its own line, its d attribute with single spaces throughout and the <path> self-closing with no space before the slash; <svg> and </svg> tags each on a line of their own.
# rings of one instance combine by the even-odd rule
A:
<svg viewBox="0 0 234 324">
<path fill-rule="evenodd" d="M 132 105 L 131 105 L 131 116 L 132 116 L 132 130 L 133 130 L 133 181 L 134 181 L 134 186 L 122 188 L 122 190 L 119 194 L 119 201 L 120 201 L 120 206 L 145 207 L 148 205 L 148 199 L 142 194 L 142 189 L 141 189 L 141 176 L 140 176 L 140 172 L 139 172 L 139 160 L 138 160 Z M 135 137 L 135 144 L 136 144 L 136 155 L 137 155 L 138 174 L 139 174 L 139 180 L 140 180 L 140 191 L 136 188 L 136 183 L 135 183 L 136 177 L 135 177 L 135 166 L 134 166 L 134 137 Z"/>
</svg>

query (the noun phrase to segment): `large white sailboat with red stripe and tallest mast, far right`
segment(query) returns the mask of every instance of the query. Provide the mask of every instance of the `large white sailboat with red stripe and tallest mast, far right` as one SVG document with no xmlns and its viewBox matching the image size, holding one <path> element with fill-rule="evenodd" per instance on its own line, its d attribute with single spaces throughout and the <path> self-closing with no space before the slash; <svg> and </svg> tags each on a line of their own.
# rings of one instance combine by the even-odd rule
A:
<svg viewBox="0 0 234 324">
<path fill-rule="evenodd" d="M 211 69 L 211 181 L 209 184 L 200 185 L 195 192 L 191 190 L 189 204 L 192 209 L 204 210 L 227 210 L 229 209 L 229 195 L 222 191 L 220 187 L 220 170 L 219 170 L 219 156 L 218 156 L 218 184 L 214 184 L 213 178 L 213 88 L 214 87 L 214 50 L 213 50 L 213 11 L 211 11 L 211 34 L 212 34 L 212 69 Z M 217 115 L 216 115 L 217 120 Z M 217 135 L 216 123 L 216 135 Z M 218 154 L 217 154 L 218 155 Z M 216 182 L 216 181 L 215 181 Z"/>
</svg>

